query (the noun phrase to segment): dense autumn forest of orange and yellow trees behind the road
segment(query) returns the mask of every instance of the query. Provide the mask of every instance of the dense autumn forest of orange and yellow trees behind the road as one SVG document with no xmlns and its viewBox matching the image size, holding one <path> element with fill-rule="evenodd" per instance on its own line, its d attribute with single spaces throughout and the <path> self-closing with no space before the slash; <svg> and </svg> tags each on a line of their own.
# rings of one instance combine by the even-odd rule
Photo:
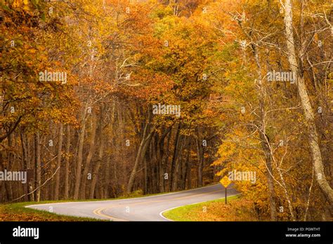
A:
<svg viewBox="0 0 333 244">
<path fill-rule="evenodd" d="M 1 0 L 0 22 L 0 203 L 231 172 L 259 219 L 332 220 L 332 1 Z"/>
</svg>

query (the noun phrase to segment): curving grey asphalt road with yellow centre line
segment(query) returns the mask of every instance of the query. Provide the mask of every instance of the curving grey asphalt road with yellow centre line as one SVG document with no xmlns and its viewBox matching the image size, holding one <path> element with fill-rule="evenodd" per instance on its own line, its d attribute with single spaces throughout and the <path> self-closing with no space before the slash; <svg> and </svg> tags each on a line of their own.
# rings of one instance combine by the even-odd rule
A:
<svg viewBox="0 0 333 244">
<path fill-rule="evenodd" d="M 228 187 L 228 196 L 237 194 Z M 59 215 L 93 217 L 113 221 L 167 221 L 162 212 L 171 208 L 224 198 L 221 184 L 170 194 L 126 198 L 110 201 L 85 201 L 29 205 L 26 208 L 46 210 Z"/>
</svg>

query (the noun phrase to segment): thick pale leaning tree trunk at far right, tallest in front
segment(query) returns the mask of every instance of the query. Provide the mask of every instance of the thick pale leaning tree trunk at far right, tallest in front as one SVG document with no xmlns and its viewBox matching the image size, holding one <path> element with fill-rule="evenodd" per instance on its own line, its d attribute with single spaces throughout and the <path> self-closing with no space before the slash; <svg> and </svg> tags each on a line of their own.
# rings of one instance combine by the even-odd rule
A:
<svg viewBox="0 0 333 244">
<path fill-rule="evenodd" d="M 308 91 L 306 90 L 306 84 L 303 79 L 303 74 L 296 60 L 296 51 L 294 44 L 294 30 L 292 22 L 292 0 L 285 0 L 285 37 L 288 52 L 288 61 L 290 69 L 297 75 L 297 89 L 299 97 L 301 98 L 301 104 L 303 107 L 303 113 L 308 123 L 308 142 L 311 147 L 311 153 L 313 158 L 313 168 L 315 169 L 315 179 L 318 182 L 322 193 L 327 197 L 330 205 L 333 205 L 333 189 L 329 186 L 325 177 L 324 166 L 322 165 L 322 155 L 319 147 L 318 133 L 315 128 L 315 116 L 313 114 L 313 108 L 311 106 L 310 98 L 308 97 Z M 303 46 L 303 43 L 301 43 Z"/>
</svg>

